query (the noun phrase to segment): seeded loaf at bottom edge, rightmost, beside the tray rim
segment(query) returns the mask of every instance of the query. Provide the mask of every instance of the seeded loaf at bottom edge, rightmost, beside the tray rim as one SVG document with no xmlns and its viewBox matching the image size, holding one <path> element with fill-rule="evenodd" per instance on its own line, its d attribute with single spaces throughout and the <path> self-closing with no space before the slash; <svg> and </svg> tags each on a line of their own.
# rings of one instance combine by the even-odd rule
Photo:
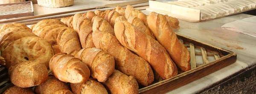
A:
<svg viewBox="0 0 256 94">
<path fill-rule="evenodd" d="M 114 70 L 108 80 L 103 82 L 111 94 L 138 94 L 139 86 L 133 76 Z"/>
</svg>

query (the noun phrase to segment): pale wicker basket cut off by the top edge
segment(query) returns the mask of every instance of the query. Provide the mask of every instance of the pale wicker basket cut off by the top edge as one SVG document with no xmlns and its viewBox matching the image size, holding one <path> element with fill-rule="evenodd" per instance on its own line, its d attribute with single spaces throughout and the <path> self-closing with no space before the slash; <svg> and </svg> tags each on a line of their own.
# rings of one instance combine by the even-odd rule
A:
<svg viewBox="0 0 256 94">
<path fill-rule="evenodd" d="M 37 0 L 39 6 L 44 6 L 48 8 L 60 8 L 66 6 L 72 6 L 74 0 Z"/>
</svg>

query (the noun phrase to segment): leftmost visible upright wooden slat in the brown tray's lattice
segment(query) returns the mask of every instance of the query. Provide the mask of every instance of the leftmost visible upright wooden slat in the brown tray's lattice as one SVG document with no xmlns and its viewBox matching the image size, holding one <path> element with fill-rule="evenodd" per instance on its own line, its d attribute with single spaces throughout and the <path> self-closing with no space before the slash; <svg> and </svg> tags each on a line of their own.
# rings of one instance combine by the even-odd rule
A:
<svg viewBox="0 0 256 94">
<path fill-rule="evenodd" d="M 195 47 L 194 47 L 194 44 L 191 44 L 191 43 L 190 43 L 190 66 L 191 66 L 191 69 L 196 68 Z"/>
</svg>

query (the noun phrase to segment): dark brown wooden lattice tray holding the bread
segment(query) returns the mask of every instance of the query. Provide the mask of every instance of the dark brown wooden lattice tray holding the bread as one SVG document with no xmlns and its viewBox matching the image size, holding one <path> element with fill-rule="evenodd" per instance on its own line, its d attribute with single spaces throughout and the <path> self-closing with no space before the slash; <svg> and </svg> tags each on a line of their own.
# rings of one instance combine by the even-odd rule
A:
<svg viewBox="0 0 256 94">
<path fill-rule="evenodd" d="M 190 50 L 192 69 L 183 73 L 179 72 L 179 75 L 166 80 L 154 81 L 150 86 L 140 87 L 139 93 L 163 94 L 236 62 L 236 53 L 179 34 L 177 37 Z M 200 62 L 197 58 L 203 61 Z M 0 66 L 0 93 L 10 86 L 12 83 L 8 78 L 7 69 Z"/>
</svg>

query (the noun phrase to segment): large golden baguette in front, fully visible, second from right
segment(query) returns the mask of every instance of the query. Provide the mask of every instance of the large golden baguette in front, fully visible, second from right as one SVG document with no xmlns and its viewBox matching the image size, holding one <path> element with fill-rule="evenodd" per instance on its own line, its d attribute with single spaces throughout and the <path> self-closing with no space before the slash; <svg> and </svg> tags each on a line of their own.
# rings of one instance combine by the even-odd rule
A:
<svg viewBox="0 0 256 94">
<path fill-rule="evenodd" d="M 177 75 L 177 67 L 164 47 L 156 40 L 126 21 L 116 22 L 114 29 L 118 41 L 147 60 L 163 79 Z"/>
</svg>

